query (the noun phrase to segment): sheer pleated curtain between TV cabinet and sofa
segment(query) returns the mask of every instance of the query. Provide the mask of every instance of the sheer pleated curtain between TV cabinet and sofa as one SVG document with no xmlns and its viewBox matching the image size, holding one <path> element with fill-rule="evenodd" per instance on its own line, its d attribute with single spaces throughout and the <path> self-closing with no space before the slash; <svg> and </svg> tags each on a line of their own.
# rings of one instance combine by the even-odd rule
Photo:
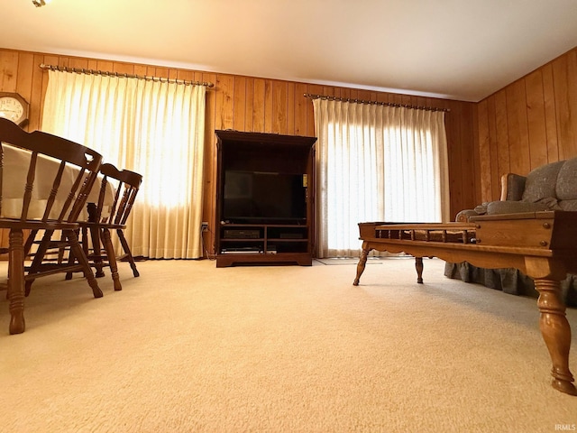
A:
<svg viewBox="0 0 577 433">
<path fill-rule="evenodd" d="M 449 221 L 444 112 L 316 98 L 318 257 L 356 257 L 358 223 Z"/>
</svg>

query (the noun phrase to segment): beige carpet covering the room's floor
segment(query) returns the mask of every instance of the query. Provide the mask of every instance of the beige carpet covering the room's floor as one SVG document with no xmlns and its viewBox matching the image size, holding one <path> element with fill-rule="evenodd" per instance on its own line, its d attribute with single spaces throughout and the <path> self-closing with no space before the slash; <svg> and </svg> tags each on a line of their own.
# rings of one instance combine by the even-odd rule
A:
<svg viewBox="0 0 577 433">
<path fill-rule="evenodd" d="M 326 261 L 324 261 L 327 263 Z M 554 432 L 535 299 L 408 259 L 216 269 L 121 263 L 124 290 L 36 281 L 26 332 L 0 292 L 0 431 Z M 577 310 L 567 312 L 577 326 Z M 570 364 L 577 373 L 572 338 Z"/>
</svg>

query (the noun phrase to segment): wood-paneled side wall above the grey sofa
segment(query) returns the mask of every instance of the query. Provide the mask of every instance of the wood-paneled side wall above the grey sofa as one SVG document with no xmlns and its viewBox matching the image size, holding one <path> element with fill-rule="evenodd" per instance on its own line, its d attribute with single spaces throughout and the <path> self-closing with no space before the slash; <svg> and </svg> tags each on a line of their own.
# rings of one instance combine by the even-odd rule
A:
<svg viewBox="0 0 577 433">
<path fill-rule="evenodd" d="M 500 176 L 577 156 L 577 48 L 475 106 L 478 202 L 499 199 Z"/>
</svg>

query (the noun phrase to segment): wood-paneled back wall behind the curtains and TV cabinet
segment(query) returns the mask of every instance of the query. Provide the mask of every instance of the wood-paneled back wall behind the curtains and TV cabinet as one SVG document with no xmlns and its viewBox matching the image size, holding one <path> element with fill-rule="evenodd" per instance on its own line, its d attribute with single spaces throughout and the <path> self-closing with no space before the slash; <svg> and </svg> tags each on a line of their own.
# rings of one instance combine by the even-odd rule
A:
<svg viewBox="0 0 577 433">
<path fill-rule="evenodd" d="M 48 73 L 41 63 L 73 68 L 101 69 L 163 78 L 208 81 L 206 91 L 206 152 L 204 217 L 215 224 L 215 130 L 315 136 L 312 101 L 303 94 L 350 97 L 413 106 L 448 108 L 445 114 L 451 182 L 451 212 L 477 204 L 479 180 L 474 170 L 474 104 L 461 101 L 374 92 L 355 88 L 308 85 L 268 78 L 252 78 L 188 69 L 110 60 L 85 59 L 28 51 L 0 49 L 0 91 L 18 92 L 31 104 L 29 130 L 41 129 L 41 107 Z M 477 173 L 478 174 L 478 173 Z M 212 245 L 212 239 L 206 239 Z M 209 246 L 209 250 L 212 246 Z"/>
</svg>

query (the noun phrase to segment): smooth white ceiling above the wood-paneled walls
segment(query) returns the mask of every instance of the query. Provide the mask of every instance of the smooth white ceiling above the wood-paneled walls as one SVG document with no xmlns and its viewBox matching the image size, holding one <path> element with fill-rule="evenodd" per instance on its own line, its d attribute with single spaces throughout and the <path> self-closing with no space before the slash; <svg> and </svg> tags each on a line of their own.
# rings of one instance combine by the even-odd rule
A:
<svg viewBox="0 0 577 433">
<path fill-rule="evenodd" d="M 479 101 L 577 46 L 577 0 L 0 0 L 0 47 Z"/>
</svg>

